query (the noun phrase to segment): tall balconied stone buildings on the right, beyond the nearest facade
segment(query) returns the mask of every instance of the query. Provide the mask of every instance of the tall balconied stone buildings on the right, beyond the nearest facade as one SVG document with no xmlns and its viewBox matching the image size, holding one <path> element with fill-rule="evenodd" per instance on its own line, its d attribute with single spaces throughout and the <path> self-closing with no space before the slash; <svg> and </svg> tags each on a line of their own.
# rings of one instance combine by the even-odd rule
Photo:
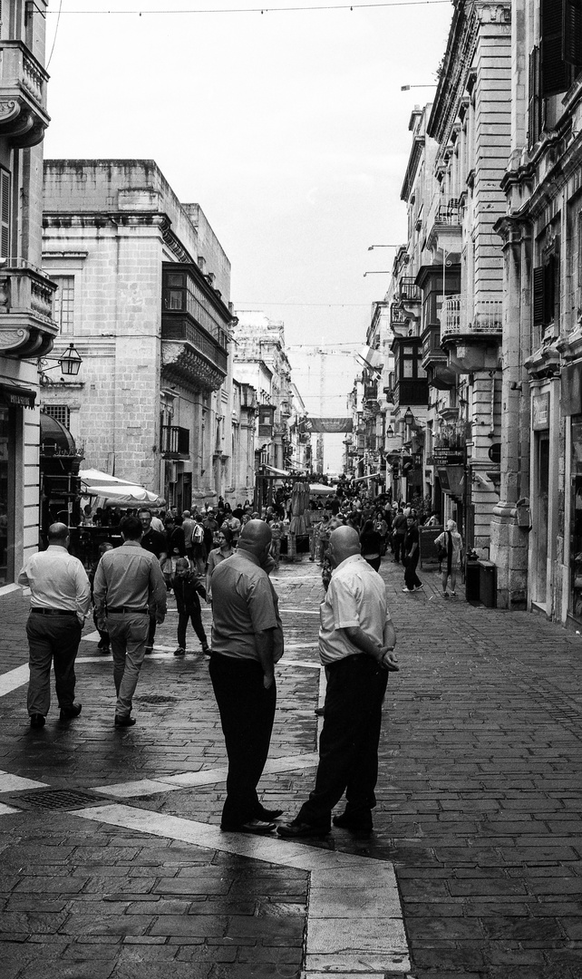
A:
<svg viewBox="0 0 582 979">
<path fill-rule="evenodd" d="M 509 2 L 455 4 L 434 102 L 412 112 L 408 240 L 385 298 L 394 437 L 384 449 L 395 493 L 453 517 L 482 557 L 500 490 L 504 279 L 494 225 L 506 208 L 510 15 Z"/>
</svg>

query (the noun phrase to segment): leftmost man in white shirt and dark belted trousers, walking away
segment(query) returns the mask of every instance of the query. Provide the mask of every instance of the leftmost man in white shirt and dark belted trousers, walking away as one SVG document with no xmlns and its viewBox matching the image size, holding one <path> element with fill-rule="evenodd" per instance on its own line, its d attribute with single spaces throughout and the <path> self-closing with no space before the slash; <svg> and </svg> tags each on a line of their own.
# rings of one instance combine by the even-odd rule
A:
<svg viewBox="0 0 582 979">
<path fill-rule="evenodd" d="M 74 703 L 74 660 L 81 629 L 91 605 L 91 588 L 80 561 L 69 553 L 69 528 L 51 524 L 48 548 L 32 554 L 19 575 L 30 588 L 26 623 L 30 680 L 27 708 L 31 727 L 43 727 L 51 703 L 51 662 L 61 721 L 81 711 Z"/>
</svg>

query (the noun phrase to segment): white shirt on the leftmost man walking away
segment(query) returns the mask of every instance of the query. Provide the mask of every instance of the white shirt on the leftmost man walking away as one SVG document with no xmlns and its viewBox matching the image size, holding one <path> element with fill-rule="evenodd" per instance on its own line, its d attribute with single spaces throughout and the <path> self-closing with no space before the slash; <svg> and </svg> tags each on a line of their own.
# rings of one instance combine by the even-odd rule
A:
<svg viewBox="0 0 582 979">
<path fill-rule="evenodd" d="M 76 612 L 82 622 L 91 606 L 91 588 L 85 569 L 78 558 L 59 544 L 50 544 L 45 551 L 32 554 L 19 575 L 19 584 L 29 586 L 33 609 Z"/>
</svg>

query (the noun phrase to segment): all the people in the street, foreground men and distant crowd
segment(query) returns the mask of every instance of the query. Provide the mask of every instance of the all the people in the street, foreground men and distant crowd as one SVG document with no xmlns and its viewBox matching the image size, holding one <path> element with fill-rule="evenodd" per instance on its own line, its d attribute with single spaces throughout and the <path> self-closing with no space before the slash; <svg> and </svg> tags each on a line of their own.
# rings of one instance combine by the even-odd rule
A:
<svg viewBox="0 0 582 979">
<path fill-rule="evenodd" d="M 101 652 L 111 651 L 116 691 L 114 722 L 136 723 L 133 696 L 156 627 L 167 613 L 169 592 L 177 610 L 175 656 L 186 653 L 192 625 L 210 676 L 228 756 L 221 827 L 226 831 L 303 837 L 335 825 L 368 831 L 375 806 L 377 749 L 388 674 L 398 670 L 396 633 L 386 587 L 378 571 L 392 555 L 405 569 L 404 590 L 420 590 L 417 577 L 419 516 L 386 496 L 341 488 L 312 502 L 310 560 L 318 561 L 324 587 L 319 655 L 327 688 L 315 787 L 299 813 L 277 824 L 258 784 L 267 761 L 276 710 L 275 666 L 283 655 L 278 598 L 269 575 L 279 567 L 281 541 L 291 517 L 289 494 L 280 489 L 259 514 L 249 500 L 232 509 L 222 500 L 203 510 L 149 509 L 121 515 L 122 543 L 103 544 L 87 576 L 69 553 L 69 530 L 54 524 L 48 548 L 26 562 L 19 583 L 30 588 L 26 632 L 31 727 L 42 727 L 50 707 L 50 669 L 60 721 L 81 712 L 74 699 L 74 660 L 82 625 L 93 604 Z M 434 527 L 436 515 L 428 524 Z M 435 541 L 443 594 L 456 594 L 462 539 L 449 521 Z M 450 583 L 451 591 L 447 592 Z M 202 623 L 201 599 L 213 609 L 212 639 Z M 341 816 L 332 810 L 345 794 Z"/>
</svg>

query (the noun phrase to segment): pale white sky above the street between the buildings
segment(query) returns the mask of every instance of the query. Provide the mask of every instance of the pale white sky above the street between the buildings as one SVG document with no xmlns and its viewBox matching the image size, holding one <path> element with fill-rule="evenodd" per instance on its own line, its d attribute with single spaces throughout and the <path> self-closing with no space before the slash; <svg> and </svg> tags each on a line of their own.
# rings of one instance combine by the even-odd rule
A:
<svg viewBox="0 0 582 979">
<path fill-rule="evenodd" d="M 389 279 L 364 272 L 394 256 L 367 248 L 405 240 L 408 125 L 434 92 L 401 85 L 434 84 L 453 5 L 325 2 L 345 0 L 52 0 L 45 156 L 154 159 L 210 220 L 235 308 L 284 321 L 308 410 L 343 415 L 357 363 L 325 357 L 320 412 L 311 348 L 364 346 Z"/>
</svg>

